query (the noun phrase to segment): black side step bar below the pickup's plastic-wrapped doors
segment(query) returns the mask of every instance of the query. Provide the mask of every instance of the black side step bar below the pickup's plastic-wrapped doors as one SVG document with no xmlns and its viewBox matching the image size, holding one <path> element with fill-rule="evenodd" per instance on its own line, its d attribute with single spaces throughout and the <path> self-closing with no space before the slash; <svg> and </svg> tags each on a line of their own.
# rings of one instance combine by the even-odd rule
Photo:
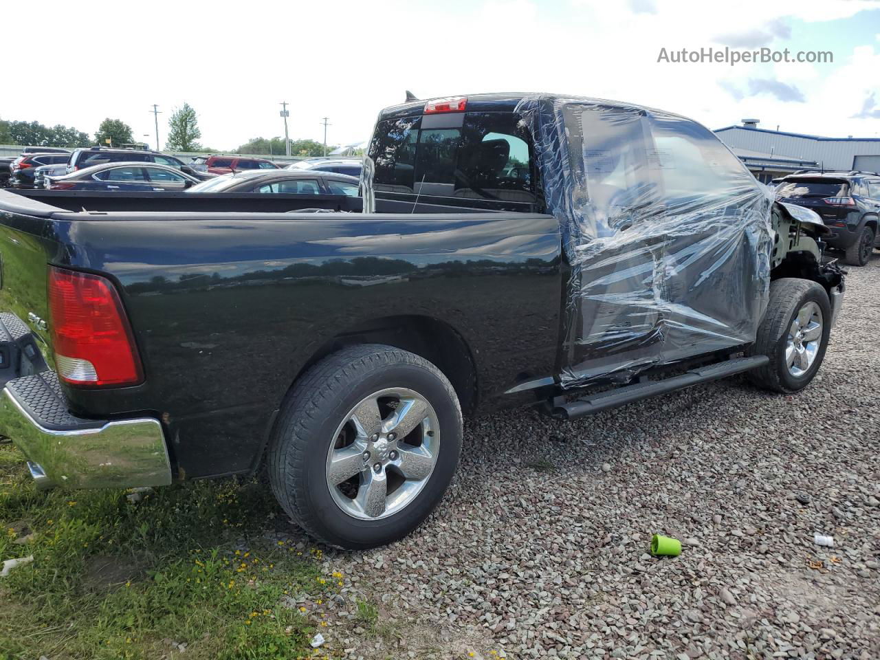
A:
<svg viewBox="0 0 880 660">
<path fill-rule="evenodd" d="M 770 358 L 767 356 L 736 357 L 732 360 L 725 360 L 724 362 L 692 369 L 678 376 L 664 378 L 663 380 L 646 380 L 642 383 L 624 385 L 613 390 L 598 392 L 583 399 L 561 403 L 554 406 L 553 415 L 561 419 L 571 420 L 587 414 L 598 413 L 608 408 L 625 406 L 627 403 L 648 399 L 657 394 L 665 394 L 666 392 L 680 390 L 683 387 L 690 387 L 698 383 L 708 383 L 711 380 L 733 376 L 743 371 L 751 371 L 752 369 L 764 366 L 768 362 L 770 362 Z"/>
</svg>

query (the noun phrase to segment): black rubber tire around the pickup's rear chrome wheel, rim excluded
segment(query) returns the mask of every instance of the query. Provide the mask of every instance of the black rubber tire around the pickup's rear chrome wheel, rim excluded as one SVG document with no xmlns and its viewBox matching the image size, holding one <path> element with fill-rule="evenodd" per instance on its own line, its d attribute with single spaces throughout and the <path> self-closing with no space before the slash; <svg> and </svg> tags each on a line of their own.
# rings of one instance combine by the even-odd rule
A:
<svg viewBox="0 0 880 660">
<path fill-rule="evenodd" d="M 388 387 L 419 392 L 433 407 L 441 429 L 439 454 L 422 490 L 405 508 L 358 519 L 334 502 L 326 480 L 327 451 L 348 411 Z M 268 477 L 282 508 L 312 537 L 348 550 L 382 546 L 412 532 L 443 498 L 458 466 L 461 436 L 458 397 L 434 364 L 381 344 L 343 348 L 299 378 L 284 401 L 268 451 Z"/>
</svg>

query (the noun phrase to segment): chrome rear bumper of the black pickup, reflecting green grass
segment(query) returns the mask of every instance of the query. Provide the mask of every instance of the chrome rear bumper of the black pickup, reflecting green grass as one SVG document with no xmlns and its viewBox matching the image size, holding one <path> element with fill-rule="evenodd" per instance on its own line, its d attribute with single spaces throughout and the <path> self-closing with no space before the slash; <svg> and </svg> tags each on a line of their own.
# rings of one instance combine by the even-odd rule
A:
<svg viewBox="0 0 880 660">
<path fill-rule="evenodd" d="M 70 414 L 54 371 L 9 381 L 0 433 L 24 452 L 41 488 L 135 488 L 172 481 L 158 420 L 86 420 Z"/>
</svg>

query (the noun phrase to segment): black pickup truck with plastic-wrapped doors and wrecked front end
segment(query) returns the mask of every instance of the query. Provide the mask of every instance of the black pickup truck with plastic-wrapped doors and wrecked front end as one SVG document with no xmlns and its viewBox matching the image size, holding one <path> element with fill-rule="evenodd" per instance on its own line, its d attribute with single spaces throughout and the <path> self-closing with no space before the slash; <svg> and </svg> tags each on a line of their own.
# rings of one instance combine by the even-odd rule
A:
<svg viewBox="0 0 880 660">
<path fill-rule="evenodd" d="M 312 535 L 376 546 L 444 495 L 463 414 L 573 418 L 744 371 L 797 392 L 843 299 L 815 214 L 650 108 L 394 106 L 362 188 L 0 191 L 0 430 L 33 476 L 265 469 Z"/>
</svg>

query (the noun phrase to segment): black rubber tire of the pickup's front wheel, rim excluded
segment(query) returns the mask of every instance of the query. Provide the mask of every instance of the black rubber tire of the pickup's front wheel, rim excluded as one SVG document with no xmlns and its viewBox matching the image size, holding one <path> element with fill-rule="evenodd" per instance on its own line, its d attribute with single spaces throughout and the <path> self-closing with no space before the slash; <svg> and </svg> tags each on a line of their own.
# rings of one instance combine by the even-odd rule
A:
<svg viewBox="0 0 880 660">
<path fill-rule="evenodd" d="M 786 361 L 786 344 L 788 329 L 792 325 L 797 312 L 810 302 L 818 304 L 822 312 L 822 334 L 816 357 L 808 370 L 794 375 L 788 369 Z M 810 385 L 816 376 L 825 349 L 828 348 L 828 337 L 831 334 L 831 304 L 828 294 L 816 282 L 796 277 L 782 277 L 770 282 L 770 300 L 758 336 L 749 350 L 752 356 L 767 356 L 770 362 L 759 369 L 752 370 L 749 378 L 752 383 L 773 392 L 799 392 Z"/>
</svg>

